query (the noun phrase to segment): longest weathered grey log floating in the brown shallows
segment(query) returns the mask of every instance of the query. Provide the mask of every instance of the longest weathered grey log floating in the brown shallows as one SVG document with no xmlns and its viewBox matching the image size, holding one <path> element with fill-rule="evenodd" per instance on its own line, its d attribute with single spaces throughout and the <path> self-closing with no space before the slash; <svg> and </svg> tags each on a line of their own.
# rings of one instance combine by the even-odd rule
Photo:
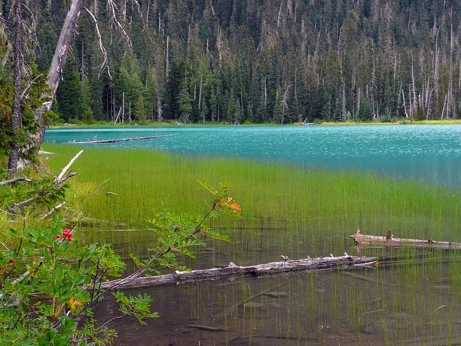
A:
<svg viewBox="0 0 461 346">
<path fill-rule="evenodd" d="M 285 257 L 285 256 L 283 256 Z M 305 272 L 313 270 L 327 270 L 339 268 L 351 268 L 357 266 L 374 266 L 376 257 L 339 256 L 339 257 L 316 257 L 270 262 L 250 266 L 240 266 L 232 262 L 222 268 L 211 268 L 190 272 L 176 271 L 175 274 L 165 274 L 153 277 L 142 277 L 123 282 L 124 279 L 113 280 L 101 284 L 101 288 L 139 288 L 178 283 L 193 283 L 206 280 L 235 278 L 239 276 L 258 277 L 263 275 L 275 275 L 291 272 Z"/>
</svg>

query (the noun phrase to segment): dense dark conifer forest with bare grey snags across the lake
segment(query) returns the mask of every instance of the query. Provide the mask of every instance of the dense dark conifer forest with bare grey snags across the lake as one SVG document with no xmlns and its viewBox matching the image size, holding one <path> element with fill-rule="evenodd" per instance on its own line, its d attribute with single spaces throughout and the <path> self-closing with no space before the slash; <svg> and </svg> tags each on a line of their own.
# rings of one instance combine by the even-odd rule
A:
<svg viewBox="0 0 461 346">
<path fill-rule="evenodd" d="M 24 2 L 37 73 L 70 5 Z M 0 16 L 5 83 L 10 1 Z M 83 0 L 53 111 L 65 122 L 456 119 L 460 25 L 455 0 Z"/>
</svg>

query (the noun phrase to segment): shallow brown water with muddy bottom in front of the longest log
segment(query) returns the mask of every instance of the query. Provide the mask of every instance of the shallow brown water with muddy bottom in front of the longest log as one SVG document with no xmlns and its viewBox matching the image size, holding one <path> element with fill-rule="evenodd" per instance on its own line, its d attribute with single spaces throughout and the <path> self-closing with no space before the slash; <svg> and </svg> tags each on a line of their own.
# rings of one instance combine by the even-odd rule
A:
<svg viewBox="0 0 461 346">
<path fill-rule="evenodd" d="M 116 320 L 117 345 L 441 345 L 461 341 L 459 257 L 413 252 L 377 268 L 129 290 L 160 318 Z M 406 263 L 406 264 L 405 264 Z M 108 300 L 100 321 L 117 316 Z"/>
</svg>

